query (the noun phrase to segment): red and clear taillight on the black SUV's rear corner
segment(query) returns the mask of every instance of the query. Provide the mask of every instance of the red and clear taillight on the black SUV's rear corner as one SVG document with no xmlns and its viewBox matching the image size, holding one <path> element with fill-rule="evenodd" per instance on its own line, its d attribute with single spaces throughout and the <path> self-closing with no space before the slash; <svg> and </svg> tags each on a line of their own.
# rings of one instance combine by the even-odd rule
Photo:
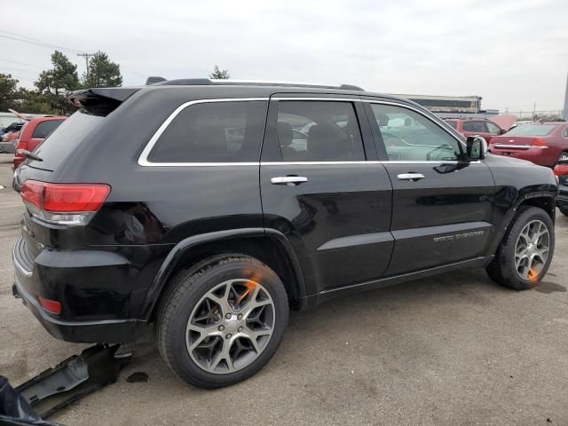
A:
<svg viewBox="0 0 568 426">
<path fill-rule="evenodd" d="M 50 184 L 27 180 L 20 195 L 30 213 L 57 225 L 85 225 L 110 193 L 105 184 Z"/>
</svg>

